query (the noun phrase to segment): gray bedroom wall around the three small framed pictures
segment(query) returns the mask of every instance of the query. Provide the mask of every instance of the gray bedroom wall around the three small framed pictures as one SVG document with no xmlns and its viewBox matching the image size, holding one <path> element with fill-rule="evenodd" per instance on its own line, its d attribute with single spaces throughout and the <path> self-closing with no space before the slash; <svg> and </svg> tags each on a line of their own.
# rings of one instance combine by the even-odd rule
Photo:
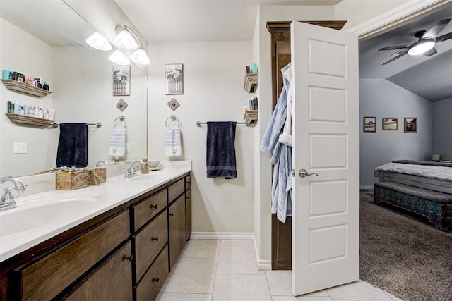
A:
<svg viewBox="0 0 452 301">
<path fill-rule="evenodd" d="M 378 180 L 374 178 L 377 166 L 397 159 L 430 159 L 432 107 L 432 102 L 388 80 L 359 80 L 361 123 L 364 116 L 376 117 L 376 133 L 363 133 L 360 129 L 361 186 L 371 186 Z M 397 117 L 398 130 L 381 130 L 383 117 Z M 417 133 L 403 133 L 404 117 L 417 117 Z"/>
</svg>

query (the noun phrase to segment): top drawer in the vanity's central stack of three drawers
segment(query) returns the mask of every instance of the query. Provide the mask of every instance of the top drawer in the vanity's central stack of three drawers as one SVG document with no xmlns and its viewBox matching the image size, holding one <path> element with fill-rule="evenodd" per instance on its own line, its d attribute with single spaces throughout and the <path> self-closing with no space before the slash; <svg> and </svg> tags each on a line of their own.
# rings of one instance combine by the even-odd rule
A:
<svg viewBox="0 0 452 301">
<path fill-rule="evenodd" d="M 145 199 L 143 202 L 132 206 L 133 212 L 133 231 L 137 231 L 138 228 L 152 219 L 155 214 L 161 211 L 167 206 L 167 190 L 162 190 Z"/>
</svg>

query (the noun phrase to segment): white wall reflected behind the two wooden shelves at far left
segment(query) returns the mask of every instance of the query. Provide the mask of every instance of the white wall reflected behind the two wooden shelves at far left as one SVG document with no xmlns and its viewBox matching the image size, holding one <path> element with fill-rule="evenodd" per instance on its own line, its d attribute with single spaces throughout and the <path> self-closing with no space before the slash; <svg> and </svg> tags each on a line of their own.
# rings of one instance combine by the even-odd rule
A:
<svg viewBox="0 0 452 301">
<path fill-rule="evenodd" d="M 25 73 L 27 76 L 42 76 L 49 82 L 52 89 L 52 47 L 40 39 L 33 37 L 0 19 L 0 62 L 1 70 L 7 69 Z M 35 171 L 45 171 L 49 168 L 47 146 L 52 139 L 52 131 L 27 125 L 12 123 L 4 113 L 6 102 L 20 102 L 31 106 L 52 107 L 52 94 L 43 97 L 31 97 L 6 89 L 0 85 L 0 176 L 25 176 Z M 14 142 L 26 142 L 27 154 L 13 154 Z"/>
</svg>

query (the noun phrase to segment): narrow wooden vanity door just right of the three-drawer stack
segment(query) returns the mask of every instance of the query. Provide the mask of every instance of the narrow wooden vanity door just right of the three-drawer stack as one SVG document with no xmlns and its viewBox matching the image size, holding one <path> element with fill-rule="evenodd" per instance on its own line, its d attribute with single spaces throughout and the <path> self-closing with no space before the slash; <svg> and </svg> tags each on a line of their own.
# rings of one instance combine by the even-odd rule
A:
<svg viewBox="0 0 452 301">
<path fill-rule="evenodd" d="M 169 271 L 185 245 L 185 194 L 168 207 L 169 223 Z"/>
</svg>

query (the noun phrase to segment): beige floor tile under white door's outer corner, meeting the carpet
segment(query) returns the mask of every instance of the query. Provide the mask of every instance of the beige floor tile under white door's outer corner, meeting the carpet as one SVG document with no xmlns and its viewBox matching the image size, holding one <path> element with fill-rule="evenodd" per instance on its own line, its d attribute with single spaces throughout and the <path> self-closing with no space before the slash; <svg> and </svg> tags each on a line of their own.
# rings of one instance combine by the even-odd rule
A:
<svg viewBox="0 0 452 301">
<path fill-rule="evenodd" d="M 383 290 L 361 280 L 328 288 L 327 292 L 334 301 L 393 301 Z"/>
</svg>

